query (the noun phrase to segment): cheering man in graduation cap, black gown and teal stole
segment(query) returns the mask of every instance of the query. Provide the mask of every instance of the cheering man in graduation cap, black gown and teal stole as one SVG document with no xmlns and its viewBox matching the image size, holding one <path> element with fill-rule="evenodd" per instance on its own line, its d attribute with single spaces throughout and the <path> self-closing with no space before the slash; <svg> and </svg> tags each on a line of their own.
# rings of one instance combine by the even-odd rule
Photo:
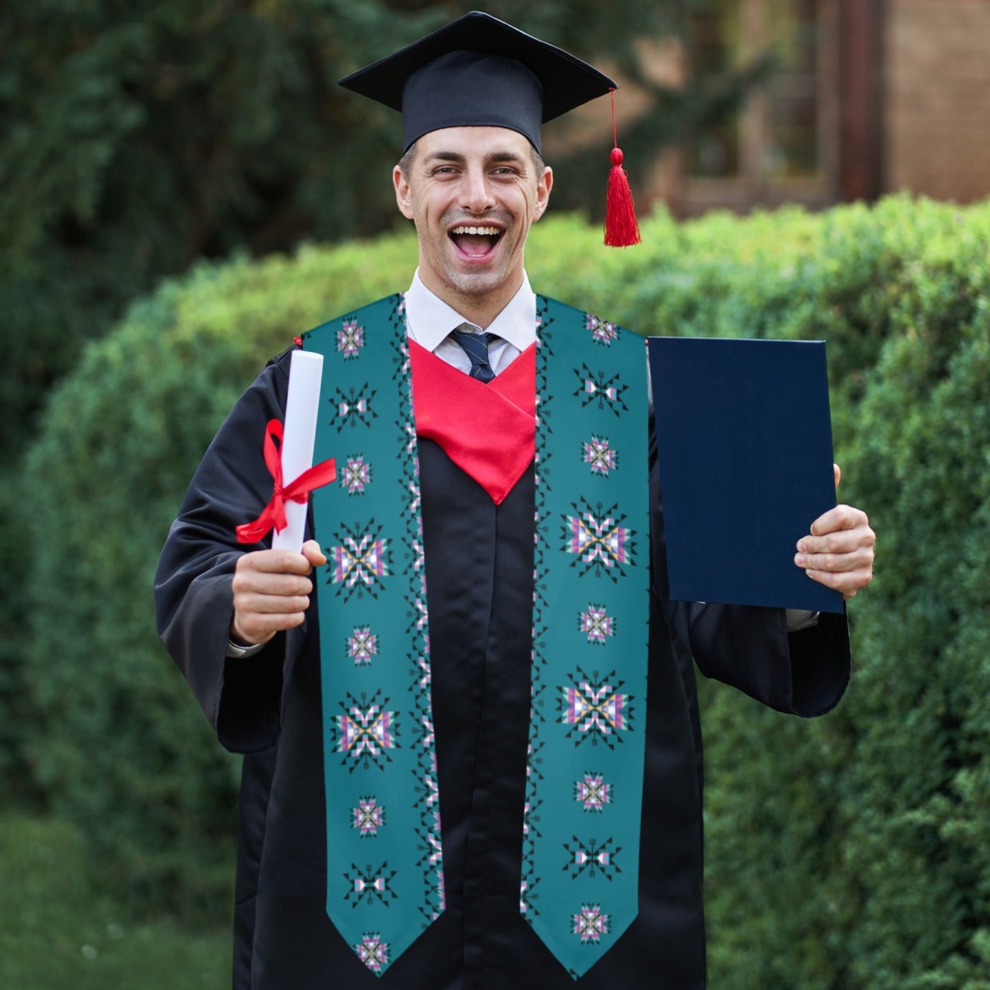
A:
<svg viewBox="0 0 990 990">
<path fill-rule="evenodd" d="M 848 677 L 844 617 L 668 600 L 653 453 L 648 493 L 637 474 L 642 341 L 529 287 L 540 123 L 611 80 L 472 14 L 345 82 L 402 109 L 420 263 L 404 296 L 304 337 L 330 365 L 318 446 L 347 452 L 341 483 L 301 553 L 235 542 L 271 494 L 283 354 L 205 455 L 156 579 L 163 642 L 246 754 L 235 984 L 702 987 L 691 654 L 817 715 Z M 859 510 L 795 537 L 811 578 L 868 583 Z"/>
</svg>

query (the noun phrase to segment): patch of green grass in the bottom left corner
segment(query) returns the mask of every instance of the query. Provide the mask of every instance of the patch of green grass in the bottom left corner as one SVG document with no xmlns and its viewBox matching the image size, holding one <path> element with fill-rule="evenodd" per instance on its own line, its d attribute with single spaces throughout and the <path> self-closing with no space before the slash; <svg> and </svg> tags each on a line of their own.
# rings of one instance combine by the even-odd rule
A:
<svg viewBox="0 0 990 990">
<path fill-rule="evenodd" d="M 233 863 L 232 863 L 233 869 Z M 99 891 L 72 825 L 0 816 L 0 987 L 227 990 L 231 933 L 131 921 Z"/>
</svg>

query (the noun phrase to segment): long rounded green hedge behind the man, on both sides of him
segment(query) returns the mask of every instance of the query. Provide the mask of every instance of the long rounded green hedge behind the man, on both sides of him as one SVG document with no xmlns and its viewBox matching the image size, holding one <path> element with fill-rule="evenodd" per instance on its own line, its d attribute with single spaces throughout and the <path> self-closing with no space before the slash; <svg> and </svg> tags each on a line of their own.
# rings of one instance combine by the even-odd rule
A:
<svg viewBox="0 0 990 990">
<path fill-rule="evenodd" d="M 842 496 L 880 534 L 856 668 L 802 723 L 704 685 L 711 985 L 990 985 L 990 204 L 532 233 L 534 285 L 645 332 L 825 338 Z M 39 785 L 145 903 L 222 914 L 236 767 L 155 643 L 149 588 L 195 464 L 255 369 L 403 287 L 411 236 L 202 267 L 136 305 L 31 451 Z M 968 982 L 967 982 L 968 981 Z"/>
</svg>

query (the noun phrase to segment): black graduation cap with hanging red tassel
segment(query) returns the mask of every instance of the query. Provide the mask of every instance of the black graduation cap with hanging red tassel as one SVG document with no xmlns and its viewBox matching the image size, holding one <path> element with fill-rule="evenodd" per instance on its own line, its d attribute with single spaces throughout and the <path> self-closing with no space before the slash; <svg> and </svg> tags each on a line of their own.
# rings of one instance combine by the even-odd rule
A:
<svg viewBox="0 0 990 990">
<path fill-rule="evenodd" d="M 352 72 L 340 84 L 401 112 L 403 150 L 442 128 L 504 127 L 523 135 L 539 151 L 544 121 L 617 88 L 613 79 L 586 61 L 481 11 L 458 17 Z M 640 233 L 619 148 L 612 152 L 612 163 L 605 243 L 636 244 Z M 617 180 L 625 184 L 628 203 L 622 202 L 621 189 L 615 201 Z M 628 216 L 619 217 L 617 209 Z M 612 240 L 610 225 L 618 231 Z"/>
</svg>

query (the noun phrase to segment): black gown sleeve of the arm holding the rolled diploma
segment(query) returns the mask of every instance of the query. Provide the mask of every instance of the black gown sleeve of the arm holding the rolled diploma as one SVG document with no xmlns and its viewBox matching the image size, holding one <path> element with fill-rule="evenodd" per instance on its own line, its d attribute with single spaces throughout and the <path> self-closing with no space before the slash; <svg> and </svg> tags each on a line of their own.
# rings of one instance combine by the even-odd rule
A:
<svg viewBox="0 0 990 990">
<path fill-rule="evenodd" d="M 284 420 L 290 353 L 268 363 L 203 455 L 154 577 L 161 642 L 218 739 L 234 752 L 259 752 L 276 742 L 283 666 L 304 636 L 293 630 L 298 635 L 276 635 L 253 655 L 227 656 L 234 568 L 242 553 L 262 548 L 239 544 L 235 530 L 255 519 L 271 496 L 262 445 L 268 420 Z"/>
</svg>

